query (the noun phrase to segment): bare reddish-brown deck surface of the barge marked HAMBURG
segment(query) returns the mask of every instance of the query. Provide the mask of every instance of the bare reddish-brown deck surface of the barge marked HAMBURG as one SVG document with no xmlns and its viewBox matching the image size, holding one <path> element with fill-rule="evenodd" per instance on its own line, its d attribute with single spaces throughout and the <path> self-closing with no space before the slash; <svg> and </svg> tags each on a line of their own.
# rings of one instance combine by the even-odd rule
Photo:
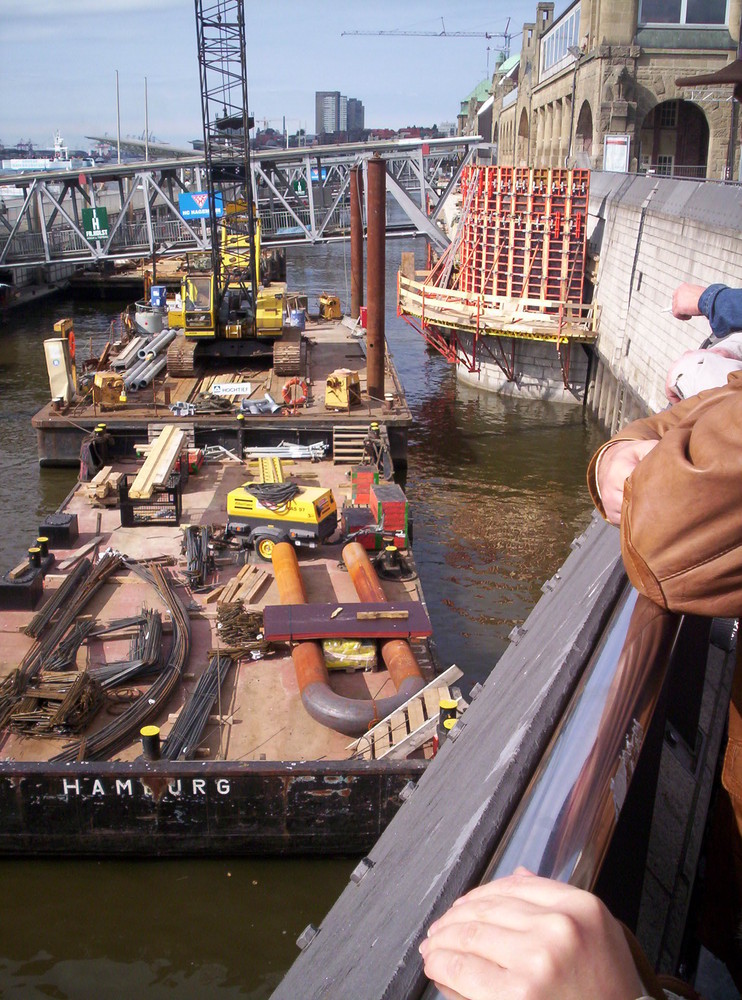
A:
<svg viewBox="0 0 742 1000">
<path fill-rule="evenodd" d="M 131 471 L 133 463 L 123 463 L 118 468 Z M 331 488 L 336 501 L 341 504 L 349 499 L 350 480 L 348 466 L 333 465 L 332 462 L 294 462 L 287 466 L 287 479 L 300 486 L 316 486 L 321 477 L 322 485 Z M 205 464 L 198 475 L 190 476 L 183 494 L 183 514 L 181 525 L 224 523 L 226 517 L 226 494 L 245 481 L 250 472 L 239 462 L 219 462 Z M 91 506 L 80 486 L 66 511 L 76 514 L 79 537 L 76 549 L 57 549 L 57 565 L 75 555 L 92 539 L 102 536 L 100 552 L 113 549 L 126 554 L 132 560 L 146 561 L 153 555 L 169 558 L 174 566 L 176 579 L 182 571 L 181 540 L 182 526 L 159 525 L 147 527 L 122 527 L 121 512 L 118 508 L 103 509 Z M 98 519 L 100 528 L 98 530 Z M 337 602 L 339 606 L 358 603 L 349 574 L 342 566 L 342 543 L 324 545 L 308 552 L 300 550 L 300 567 L 312 603 Z M 223 585 L 233 580 L 240 570 L 237 552 L 231 552 L 226 565 L 220 565 L 215 578 L 210 582 Z M 264 585 L 251 607 L 280 604 L 273 567 L 250 554 L 251 563 L 259 574 L 264 574 Z M 179 566 L 180 564 L 180 566 Z M 51 567 L 44 581 L 46 598 L 63 582 L 64 573 Z M 182 580 L 182 577 L 181 577 Z M 389 601 L 417 601 L 420 599 L 418 581 L 385 581 L 385 592 Z M 220 645 L 217 630 L 217 603 L 207 604 L 209 590 L 194 592 L 185 589 L 184 603 L 191 618 L 191 654 L 183 683 L 167 707 L 167 712 L 151 722 L 160 727 L 162 739 L 167 739 L 179 710 L 198 682 L 208 664 L 209 650 Z M 166 613 L 162 602 L 153 596 L 152 588 L 146 581 L 130 571 L 117 571 L 86 607 L 86 614 L 93 615 L 99 622 L 110 622 L 136 616 L 142 607 L 153 607 Z M 3 650 L 0 654 L 0 680 L 6 677 L 33 646 L 34 640 L 21 631 L 30 621 L 34 611 L 3 611 Z M 166 625 L 167 630 L 167 625 Z M 166 637 L 167 638 L 167 637 Z M 419 649 L 422 654 L 422 650 Z M 84 668 L 85 657 L 91 666 L 102 662 L 125 660 L 128 658 L 128 638 L 108 641 L 105 644 L 91 642 L 82 650 Z M 430 664 L 429 655 L 424 659 Z M 47 675 L 47 677 L 50 675 Z M 51 675 L 53 677 L 53 675 Z M 429 672 L 429 679 L 433 673 Z M 136 685 L 134 685 L 136 687 Z M 393 694 L 394 688 L 386 670 L 334 672 L 333 689 L 349 698 L 376 699 Z M 146 690 L 146 689 L 145 689 Z M 115 708 L 113 709 L 115 710 Z M 216 714 L 216 713 L 215 713 Z M 315 722 L 304 709 L 296 672 L 291 659 L 288 643 L 275 644 L 273 652 L 265 659 L 250 660 L 246 657 L 239 668 L 229 672 L 221 691 L 221 712 L 223 720 L 209 726 L 200 748 L 205 756 L 224 760 L 347 760 L 352 757 L 348 736 Z M 111 715 L 100 713 L 96 725 L 90 733 L 110 722 Z M 58 753 L 68 742 L 59 737 L 51 739 L 29 738 L 6 731 L 0 747 L 5 759 L 16 761 L 48 760 Z M 139 740 L 118 755 L 120 760 L 135 760 L 141 754 Z"/>
</svg>

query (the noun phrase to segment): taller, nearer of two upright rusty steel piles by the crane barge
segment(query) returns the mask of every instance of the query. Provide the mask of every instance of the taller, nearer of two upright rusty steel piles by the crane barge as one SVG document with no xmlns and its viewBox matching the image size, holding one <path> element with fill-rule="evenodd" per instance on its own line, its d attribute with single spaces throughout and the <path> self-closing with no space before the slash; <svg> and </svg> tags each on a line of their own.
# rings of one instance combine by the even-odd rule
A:
<svg viewBox="0 0 742 1000">
<path fill-rule="evenodd" d="M 368 161 L 368 239 L 366 246 L 366 384 L 374 399 L 384 399 L 384 279 L 386 255 L 386 163 Z"/>
</svg>

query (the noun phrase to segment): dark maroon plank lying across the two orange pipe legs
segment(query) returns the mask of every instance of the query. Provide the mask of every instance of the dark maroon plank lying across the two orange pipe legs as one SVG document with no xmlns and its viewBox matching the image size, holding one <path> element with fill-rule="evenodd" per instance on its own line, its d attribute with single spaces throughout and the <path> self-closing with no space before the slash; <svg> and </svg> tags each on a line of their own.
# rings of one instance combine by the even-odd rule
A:
<svg viewBox="0 0 742 1000">
<path fill-rule="evenodd" d="M 406 612 L 406 617 L 358 617 L 365 612 L 379 611 L 402 611 Z M 428 636 L 433 631 L 427 611 L 416 601 L 347 605 L 269 604 L 265 608 L 263 624 L 268 642 L 337 638 L 404 639 Z"/>
</svg>

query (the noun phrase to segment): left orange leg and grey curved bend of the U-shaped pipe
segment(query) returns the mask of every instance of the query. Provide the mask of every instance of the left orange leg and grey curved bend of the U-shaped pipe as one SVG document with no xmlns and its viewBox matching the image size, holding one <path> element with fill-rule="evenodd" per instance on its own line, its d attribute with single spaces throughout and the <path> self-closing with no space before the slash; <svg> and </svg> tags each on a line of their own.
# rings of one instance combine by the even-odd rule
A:
<svg viewBox="0 0 742 1000">
<path fill-rule="evenodd" d="M 301 578 L 299 560 L 296 558 L 293 545 L 289 542 L 279 542 L 274 547 L 273 568 L 281 604 L 306 604 L 307 595 Z M 304 708 L 317 722 L 345 736 L 361 736 L 379 719 L 391 715 L 419 690 L 419 687 L 415 687 L 412 683 L 414 678 L 411 678 L 398 689 L 396 695 L 390 698 L 377 698 L 375 701 L 343 698 L 330 687 L 330 675 L 327 672 L 321 643 L 297 642 L 291 656 Z M 391 668 L 389 672 L 391 674 Z M 399 673 L 401 672 L 400 670 Z M 420 678 L 420 687 L 424 683 Z"/>
</svg>

